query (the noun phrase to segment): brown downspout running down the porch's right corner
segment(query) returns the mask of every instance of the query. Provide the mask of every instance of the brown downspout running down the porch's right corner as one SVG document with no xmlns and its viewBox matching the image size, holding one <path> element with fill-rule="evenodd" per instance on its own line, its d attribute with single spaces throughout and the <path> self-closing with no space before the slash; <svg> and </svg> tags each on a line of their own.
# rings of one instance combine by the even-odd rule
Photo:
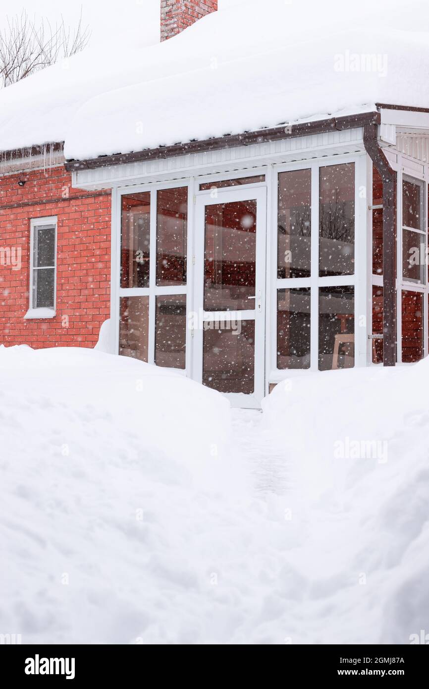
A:
<svg viewBox="0 0 429 689">
<path fill-rule="evenodd" d="M 377 141 L 377 126 L 364 127 L 364 145 L 383 179 L 383 365 L 396 364 L 396 173 Z"/>
</svg>

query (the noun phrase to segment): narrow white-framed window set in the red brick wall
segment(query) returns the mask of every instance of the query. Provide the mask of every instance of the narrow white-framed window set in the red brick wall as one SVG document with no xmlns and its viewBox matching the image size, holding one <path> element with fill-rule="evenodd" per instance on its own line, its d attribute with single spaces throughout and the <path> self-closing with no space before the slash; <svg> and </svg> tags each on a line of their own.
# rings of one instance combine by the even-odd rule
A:
<svg viewBox="0 0 429 689">
<path fill-rule="evenodd" d="M 30 220 L 30 305 L 25 318 L 55 316 L 56 226 L 56 216 Z"/>
</svg>

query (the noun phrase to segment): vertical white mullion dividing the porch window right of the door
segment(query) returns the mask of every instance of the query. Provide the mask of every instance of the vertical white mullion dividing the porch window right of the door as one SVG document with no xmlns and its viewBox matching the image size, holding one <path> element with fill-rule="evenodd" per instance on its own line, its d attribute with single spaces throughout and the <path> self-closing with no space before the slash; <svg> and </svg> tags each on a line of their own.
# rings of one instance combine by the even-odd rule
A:
<svg viewBox="0 0 429 689">
<path fill-rule="evenodd" d="M 311 165 L 310 369 L 319 370 L 319 163 Z"/>
</svg>

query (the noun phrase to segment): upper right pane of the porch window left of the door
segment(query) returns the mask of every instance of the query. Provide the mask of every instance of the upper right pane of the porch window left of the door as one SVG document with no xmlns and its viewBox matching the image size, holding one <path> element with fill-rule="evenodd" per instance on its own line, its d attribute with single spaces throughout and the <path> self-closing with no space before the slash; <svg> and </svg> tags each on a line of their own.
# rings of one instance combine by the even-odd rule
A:
<svg viewBox="0 0 429 689">
<path fill-rule="evenodd" d="M 157 194 L 156 284 L 186 285 L 188 189 Z"/>
</svg>

